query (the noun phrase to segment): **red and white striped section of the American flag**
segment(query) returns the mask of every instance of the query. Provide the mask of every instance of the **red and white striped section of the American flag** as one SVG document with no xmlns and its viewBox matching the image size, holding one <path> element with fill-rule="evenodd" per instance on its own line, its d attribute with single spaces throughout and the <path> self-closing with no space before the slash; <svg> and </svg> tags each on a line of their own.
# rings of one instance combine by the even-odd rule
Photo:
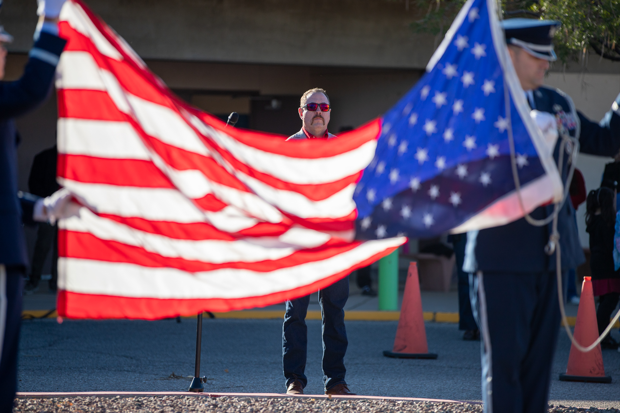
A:
<svg viewBox="0 0 620 413">
<path fill-rule="evenodd" d="M 60 15 L 58 314 L 156 319 L 301 297 L 406 238 L 353 241 L 381 123 L 285 142 L 167 89 L 79 0 Z"/>
</svg>

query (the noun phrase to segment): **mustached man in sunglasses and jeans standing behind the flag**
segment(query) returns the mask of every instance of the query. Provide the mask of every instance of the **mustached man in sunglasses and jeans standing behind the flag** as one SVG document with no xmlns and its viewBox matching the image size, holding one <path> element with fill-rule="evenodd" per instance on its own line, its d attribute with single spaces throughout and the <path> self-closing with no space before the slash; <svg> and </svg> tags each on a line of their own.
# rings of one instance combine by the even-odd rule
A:
<svg viewBox="0 0 620 413">
<path fill-rule="evenodd" d="M 301 131 L 286 139 L 287 141 L 336 137 L 327 132 L 331 109 L 325 90 L 308 90 L 301 97 L 300 103 L 299 117 L 303 121 L 303 126 Z M 347 369 L 344 357 L 348 341 L 344 306 L 347 298 L 348 276 L 319 290 L 323 341 L 321 367 L 325 394 L 354 394 L 349 391 L 345 381 Z M 306 313 L 309 303 L 309 295 L 286 302 L 282 327 L 282 365 L 286 379 L 286 394 L 304 394 L 304 387 L 308 384 L 304 372 L 308 349 Z"/>
</svg>

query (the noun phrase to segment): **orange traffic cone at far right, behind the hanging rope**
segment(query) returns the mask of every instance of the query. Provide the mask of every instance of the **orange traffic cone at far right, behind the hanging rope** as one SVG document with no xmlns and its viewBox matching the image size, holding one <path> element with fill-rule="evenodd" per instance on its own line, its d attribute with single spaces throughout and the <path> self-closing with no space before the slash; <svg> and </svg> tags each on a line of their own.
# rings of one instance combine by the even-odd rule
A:
<svg viewBox="0 0 620 413">
<path fill-rule="evenodd" d="M 582 346 L 590 346 L 598 339 L 592 277 L 583 277 L 582 295 L 579 298 L 577 322 L 575 322 L 575 340 Z M 569 365 L 566 374 L 560 374 L 562 381 L 590 381 L 593 383 L 611 383 L 611 376 L 605 375 L 603 354 L 600 344 L 584 353 L 573 344 L 570 347 Z"/>
</svg>

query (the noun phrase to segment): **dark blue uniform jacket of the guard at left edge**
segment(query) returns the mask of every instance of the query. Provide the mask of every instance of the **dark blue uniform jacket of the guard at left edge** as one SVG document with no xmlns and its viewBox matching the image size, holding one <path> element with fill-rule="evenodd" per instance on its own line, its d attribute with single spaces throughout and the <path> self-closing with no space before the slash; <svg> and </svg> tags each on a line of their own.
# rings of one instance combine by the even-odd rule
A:
<svg viewBox="0 0 620 413">
<path fill-rule="evenodd" d="M 17 131 L 13 118 L 37 107 L 48 96 L 58 56 L 66 41 L 41 32 L 24 75 L 0 82 L 0 264 L 28 266 L 17 199 Z"/>
</svg>

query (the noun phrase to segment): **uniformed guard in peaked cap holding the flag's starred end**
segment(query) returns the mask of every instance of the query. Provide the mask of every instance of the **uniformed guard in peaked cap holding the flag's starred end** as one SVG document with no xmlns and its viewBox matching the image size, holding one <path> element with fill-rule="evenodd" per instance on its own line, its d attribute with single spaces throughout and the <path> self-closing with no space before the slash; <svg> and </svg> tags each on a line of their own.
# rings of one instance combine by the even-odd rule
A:
<svg viewBox="0 0 620 413">
<path fill-rule="evenodd" d="M 556 60 L 552 38 L 560 22 L 533 19 L 503 20 L 510 57 L 530 107 L 551 113 L 559 128 L 578 138 L 585 154 L 613 157 L 620 148 L 618 100 L 600 124 L 575 111 L 569 95 L 542 85 L 549 62 Z M 566 182 L 569 150 L 560 172 Z M 545 219 L 554 206 L 541 206 L 530 215 Z M 579 242 L 575 209 L 562 204 L 558 217 L 562 272 L 585 261 Z M 546 412 L 551 364 L 560 326 L 556 253 L 548 255 L 552 224 L 535 227 L 519 219 L 501 227 L 467 234 L 464 269 L 478 274 L 479 316 L 485 353 L 482 356 L 482 397 L 485 411 Z M 565 279 L 565 277 L 564 277 Z M 564 283 L 565 284 L 565 283 Z M 588 343 L 583 343 L 588 344 Z"/>
</svg>

